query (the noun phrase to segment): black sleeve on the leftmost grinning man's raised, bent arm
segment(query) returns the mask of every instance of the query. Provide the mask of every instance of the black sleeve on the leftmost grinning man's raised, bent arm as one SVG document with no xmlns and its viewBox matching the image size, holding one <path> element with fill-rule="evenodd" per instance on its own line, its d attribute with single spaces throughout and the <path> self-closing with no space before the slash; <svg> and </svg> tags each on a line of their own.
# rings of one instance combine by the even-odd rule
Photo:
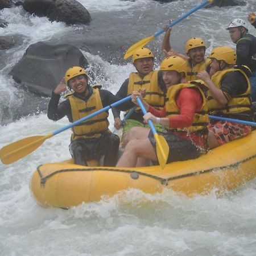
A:
<svg viewBox="0 0 256 256">
<path fill-rule="evenodd" d="M 51 100 L 48 105 L 47 117 L 53 121 L 57 121 L 67 115 L 69 122 L 73 122 L 71 114 L 71 106 L 68 100 L 59 104 L 60 95 L 52 92 Z"/>
</svg>

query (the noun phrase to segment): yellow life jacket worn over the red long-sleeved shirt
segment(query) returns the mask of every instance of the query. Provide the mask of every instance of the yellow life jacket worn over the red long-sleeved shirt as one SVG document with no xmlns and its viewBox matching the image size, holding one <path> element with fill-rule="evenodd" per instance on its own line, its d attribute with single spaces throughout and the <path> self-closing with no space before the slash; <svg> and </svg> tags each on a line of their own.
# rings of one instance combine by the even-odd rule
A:
<svg viewBox="0 0 256 256">
<path fill-rule="evenodd" d="M 202 98 L 203 98 L 203 105 L 199 112 L 195 112 L 192 126 L 190 127 L 183 127 L 183 128 L 168 128 L 170 131 L 187 131 L 190 133 L 194 133 L 196 131 L 201 131 L 203 133 L 208 133 L 207 126 L 209 124 L 209 116 L 208 116 L 208 106 L 207 106 L 207 99 L 204 96 L 204 92 L 201 88 L 205 88 L 204 82 L 201 80 L 190 81 L 189 83 L 185 84 L 177 84 L 171 86 L 167 90 L 167 101 L 166 101 L 166 117 L 174 117 L 175 115 L 180 114 L 180 110 L 176 105 L 176 96 L 177 93 L 180 92 L 183 88 L 196 88 Z"/>
</svg>

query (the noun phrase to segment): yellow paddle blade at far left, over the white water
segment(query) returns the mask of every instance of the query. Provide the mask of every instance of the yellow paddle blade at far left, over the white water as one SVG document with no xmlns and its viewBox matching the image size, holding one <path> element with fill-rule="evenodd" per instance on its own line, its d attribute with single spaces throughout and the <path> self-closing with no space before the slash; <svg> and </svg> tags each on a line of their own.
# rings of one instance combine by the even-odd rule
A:
<svg viewBox="0 0 256 256">
<path fill-rule="evenodd" d="M 20 158 L 30 154 L 36 148 L 43 144 L 43 142 L 52 137 L 52 134 L 44 136 L 32 136 L 2 147 L 0 150 L 0 159 L 3 164 L 10 164 L 18 161 Z"/>
</svg>

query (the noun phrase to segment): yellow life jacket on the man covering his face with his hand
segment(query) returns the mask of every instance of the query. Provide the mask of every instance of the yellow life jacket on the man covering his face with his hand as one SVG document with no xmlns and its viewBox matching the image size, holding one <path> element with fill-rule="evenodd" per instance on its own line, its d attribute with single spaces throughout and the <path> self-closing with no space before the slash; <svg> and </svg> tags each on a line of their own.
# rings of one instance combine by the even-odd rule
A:
<svg viewBox="0 0 256 256">
<path fill-rule="evenodd" d="M 221 88 L 221 81 L 223 77 L 233 71 L 239 71 L 245 76 L 248 87 L 245 93 L 236 95 L 228 102 L 226 105 L 221 105 L 219 104 L 212 96 L 210 96 L 210 93 L 208 91 L 207 94 L 207 100 L 208 100 L 208 108 L 209 108 L 209 113 L 210 114 L 235 114 L 235 113 L 242 113 L 246 112 L 250 109 L 251 105 L 251 99 L 250 99 L 250 91 L 251 91 L 251 86 L 250 86 L 250 81 L 249 78 L 246 76 L 246 73 L 242 71 L 241 69 L 238 68 L 229 68 L 225 69 L 224 71 L 218 71 L 212 76 L 212 81 L 214 85 L 216 85 L 217 88 Z"/>
</svg>

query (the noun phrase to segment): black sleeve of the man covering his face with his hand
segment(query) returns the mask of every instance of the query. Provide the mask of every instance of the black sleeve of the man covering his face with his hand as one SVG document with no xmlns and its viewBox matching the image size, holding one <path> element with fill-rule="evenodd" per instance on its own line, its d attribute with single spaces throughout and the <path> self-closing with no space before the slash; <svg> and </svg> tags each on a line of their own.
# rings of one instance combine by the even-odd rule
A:
<svg viewBox="0 0 256 256">
<path fill-rule="evenodd" d="M 245 93 L 247 87 L 247 80 L 239 71 L 227 73 L 221 81 L 222 92 L 227 93 L 230 98 Z M 230 100 L 230 98 L 227 98 L 227 100 Z"/>
</svg>

